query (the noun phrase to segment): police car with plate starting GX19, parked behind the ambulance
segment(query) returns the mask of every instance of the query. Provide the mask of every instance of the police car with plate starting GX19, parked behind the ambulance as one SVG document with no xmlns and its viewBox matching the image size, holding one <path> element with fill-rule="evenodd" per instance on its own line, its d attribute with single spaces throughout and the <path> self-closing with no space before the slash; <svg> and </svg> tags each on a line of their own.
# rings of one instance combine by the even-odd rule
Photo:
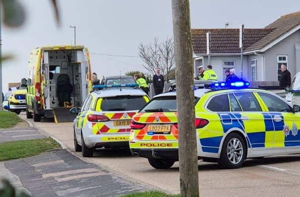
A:
<svg viewBox="0 0 300 197">
<path fill-rule="evenodd" d="M 75 151 L 91 157 L 95 148 L 128 147 L 131 117 L 149 101 L 144 91 L 135 86 L 93 86 L 95 90 L 81 107 L 70 109 L 77 114 L 73 123 Z"/>
</svg>

